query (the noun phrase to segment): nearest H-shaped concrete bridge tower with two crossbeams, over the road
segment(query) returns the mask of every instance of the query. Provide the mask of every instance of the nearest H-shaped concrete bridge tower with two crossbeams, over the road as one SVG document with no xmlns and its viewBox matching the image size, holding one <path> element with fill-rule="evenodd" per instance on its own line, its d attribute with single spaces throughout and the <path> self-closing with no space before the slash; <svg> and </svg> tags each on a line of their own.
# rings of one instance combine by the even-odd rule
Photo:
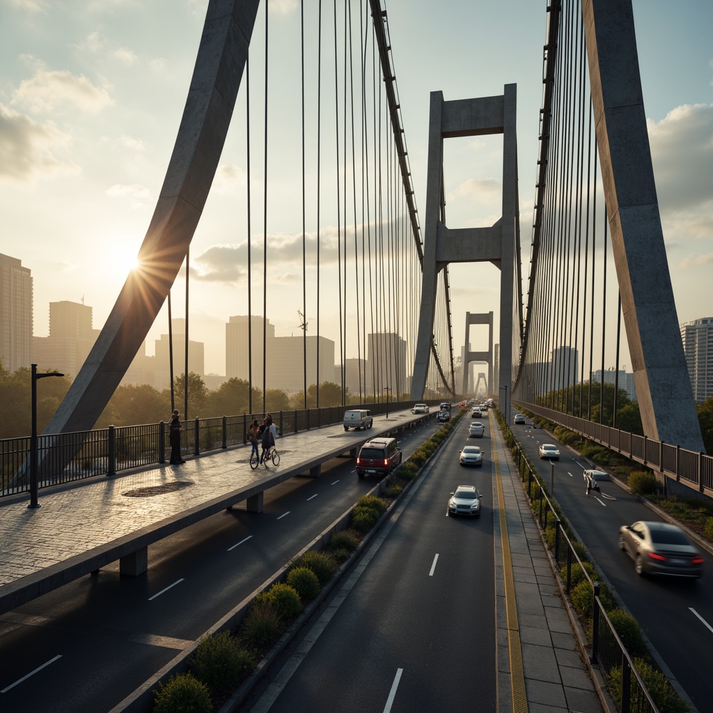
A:
<svg viewBox="0 0 713 713">
<path fill-rule="evenodd" d="M 501 409 L 509 413 L 513 357 L 519 356 L 522 323 L 516 115 L 517 93 L 514 84 L 507 84 L 502 96 L 477 99 L 444 101 L 443 93 L 439 91 L 431 93 L 424 221 L 424 272 L 411 399 L 422 399 L 426 388 L 436 310 L 438 272 L 449 262 L 492 262 L 501 270 L 498 386 L 502 387 L 501 395 L 506 394 L 506 404 L 502 404 Z M 450 230 L 441 220 L 443 139 L 496 133 L 503 134 L 501 218 L 491 226 Z M 513 328 L 516 329 L 515 333 Z M 463 364 L 464 374 L 467 374 L 467 369 L 467 364 Z M 488 389 L 496 390 L 492 383 L 488 384 Z"/>
</svg>

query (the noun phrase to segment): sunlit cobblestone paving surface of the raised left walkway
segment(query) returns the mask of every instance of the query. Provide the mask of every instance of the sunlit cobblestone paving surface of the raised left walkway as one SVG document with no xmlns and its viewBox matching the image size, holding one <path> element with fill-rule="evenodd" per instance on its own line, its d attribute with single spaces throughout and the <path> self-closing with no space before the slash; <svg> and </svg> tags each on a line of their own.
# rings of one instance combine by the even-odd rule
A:
<svg viewBox="0 0 713 713">
<path fill-rule="evenodd" d="M 29 495 L 0 502 L 0 591 L 3 585 L 57 565 L 76 555 L 108 545 L 141 528 L 158 523 L 252 486 L 266 476 L 289 471 L 312 461 L 320 452 L 376 436 L 387 426 L 411 419 L 409 412 L 374 418 L 371 431 L 349 431 L 341 425 L 279 438 L 279 466 L 250 468 L 250 448 L 232 448 L 188 458 L 182 466 L 168 463 L 113 478 L 99 476 L 91 483 L 39 491 L 40 508 L 29 509 Z M 297 471 L 298 473 L 300 471 Z M 148 498 L 125 493 L 167 483 L 193 485 Z"/>
</svg>

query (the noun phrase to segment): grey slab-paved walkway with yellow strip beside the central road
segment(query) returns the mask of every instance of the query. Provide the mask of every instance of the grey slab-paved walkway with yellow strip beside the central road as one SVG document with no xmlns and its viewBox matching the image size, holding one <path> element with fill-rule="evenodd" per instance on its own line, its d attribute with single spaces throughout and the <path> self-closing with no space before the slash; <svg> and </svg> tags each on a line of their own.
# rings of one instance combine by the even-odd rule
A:
<svg viewBox="0 0 713 713">
<path fill-rule="evenodd" d="M 609 713 L 616 708 L 578 647 L 540 530 L 491 414 L 498 508 L 498 713 Z M 504 518 L 503 518 L 504 515 Z M 499 536 L 498 536 L 499 535 Z M 583 634 L 581 635 L 583 637 Z"/>
</svg>

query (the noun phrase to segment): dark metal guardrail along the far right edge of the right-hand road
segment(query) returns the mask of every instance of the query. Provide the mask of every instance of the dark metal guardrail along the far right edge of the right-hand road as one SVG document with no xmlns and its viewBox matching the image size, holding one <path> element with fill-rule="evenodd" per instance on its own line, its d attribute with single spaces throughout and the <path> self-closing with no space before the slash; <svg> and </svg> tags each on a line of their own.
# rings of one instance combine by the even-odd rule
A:
<svg viewBox="0 0 713 713">
<path fill-rule="evenodd" d="M 655 441 L 647 436 L 630 434 L 628 431 L 597 424 L 578 416 L 563 414 L 554 409 L 545 409 L 537 404 L 518 401 L 518 406 L 533 414 L 542 416 L 553 424 L 582 434 L 590 441 L 600 443 L 612 451 L 617 451 L 632 461 L 641 463 L 652 471 L 674 478 L 689 488 L 713 496 L 713 456 L 702 451 L 688 451 L 664 441 Z"/>
</svg>

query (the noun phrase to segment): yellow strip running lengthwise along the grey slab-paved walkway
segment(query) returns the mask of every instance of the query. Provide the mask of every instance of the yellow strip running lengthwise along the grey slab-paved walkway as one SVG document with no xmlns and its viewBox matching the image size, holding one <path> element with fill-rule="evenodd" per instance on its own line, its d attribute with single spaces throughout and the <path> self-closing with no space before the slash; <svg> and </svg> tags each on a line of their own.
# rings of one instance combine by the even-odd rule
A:
<svg viewBox="0 0 713 713">
<path fill-rule="evenodd" d="M 488 420 L 491 434 L 495 419 Z M 513 560 L 510 553 L 508 521 L 505 513 L 505 496 L 498 463 L 498 449 L 492 439 L 492 457 L 495 463 L 496 483 L 498 484 L 498 513 L 500 513 L 500 539 L 503 549 L 503 579 L 505 580 L 505 602 L 508 615 L 508 650 L 510 652 L 510 687 L 513 697 L 513 713 L 528 713 L 528 697 L 525 692 L 525 674 L 523 672 L 523 652 L 520 649 L 520 625 L 518 624 L 518 605 L 515 601 L 515 580 L 513 579 Z"/>
</svg>

